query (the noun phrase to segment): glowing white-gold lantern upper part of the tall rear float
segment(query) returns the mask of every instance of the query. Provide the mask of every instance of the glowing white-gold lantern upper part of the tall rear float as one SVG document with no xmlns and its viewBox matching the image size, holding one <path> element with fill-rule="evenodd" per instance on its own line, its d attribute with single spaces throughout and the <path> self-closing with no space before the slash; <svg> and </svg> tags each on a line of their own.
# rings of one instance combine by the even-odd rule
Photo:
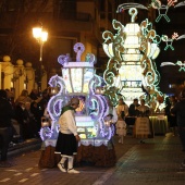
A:
<svg viewBox="0 0 185 185">
<path fill-rule="evenodd" d="M 107 83 L 106 94 L 111 94 L 112 102 L 115 104 L 118 95 L 124 96 L 125 101 L 130 102 L 135 97 L 146 98 L 144 88 L 150 95 L 150 101 L 153 101 L 153 97 L 163 96 L 157 87 L 160 75 L 153 62 L 160 52 L 158 45 L 161 38 L 147 18 L 140 25 L 135 23 L 136 8 L 121 4 L 118 12 L 125 9 L 130 9 L 131 23 L 123 26 L 113 20 L 112 25 L 118 33 L 113 35 L 106 30 L 102 34 L 104 39 L 102 46 L 110 58 L 103 73 Z M 141 9 L 147 8 L 141 5 Z"/>
</svg>

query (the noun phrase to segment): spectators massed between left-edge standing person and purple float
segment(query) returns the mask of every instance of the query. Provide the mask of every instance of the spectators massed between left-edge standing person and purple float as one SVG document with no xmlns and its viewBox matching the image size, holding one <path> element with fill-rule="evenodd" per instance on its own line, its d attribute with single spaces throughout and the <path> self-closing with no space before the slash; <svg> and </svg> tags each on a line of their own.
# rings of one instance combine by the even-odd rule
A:
<svg viewBox="0 0 185 185">
<path fill-rule="evenodd" d="M 11 94 L 9 89 L 5 90 L 14 112 L 12 118 L 12 141 L 21 143 L 29 138 L 39 138 L 41 116 L 44 116 L 50 98 L 49 90 L 46 89 L 40 94 L 37 89 L 33 89 L 28 94 L 26 89 L 23 89 L 16 99 L 13 99 L 13 96 L 9 96 Z"/>
</svg>

